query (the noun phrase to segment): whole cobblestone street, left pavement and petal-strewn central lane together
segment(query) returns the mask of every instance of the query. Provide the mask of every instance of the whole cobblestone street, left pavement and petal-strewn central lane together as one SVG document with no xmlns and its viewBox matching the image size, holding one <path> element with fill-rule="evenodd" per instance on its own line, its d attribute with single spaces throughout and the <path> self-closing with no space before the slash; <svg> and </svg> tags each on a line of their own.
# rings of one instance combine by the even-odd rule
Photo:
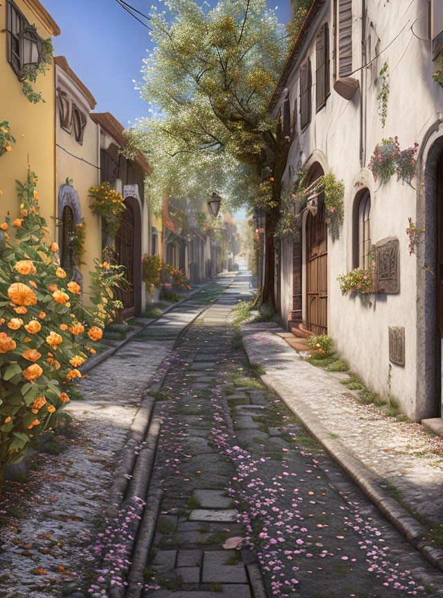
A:
<svg viewBox="0 0 443 598">
<path fill-rule="evenodd" d="M 226 322 L 250 286 L 221 278 L 82 383 L 79 435 L 44 457 L 33 500 L 3 529 L 1 597 L 443 595 L 443 575 L 258 378 Z M 148 386 L 151 423 L 109 511 Z"/>
</svg>

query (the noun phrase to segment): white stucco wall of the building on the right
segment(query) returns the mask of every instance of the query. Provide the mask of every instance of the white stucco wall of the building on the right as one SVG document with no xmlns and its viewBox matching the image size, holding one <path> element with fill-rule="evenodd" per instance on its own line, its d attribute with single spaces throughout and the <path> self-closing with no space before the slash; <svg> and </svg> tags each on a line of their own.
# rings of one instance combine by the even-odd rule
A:
<svg viewBox="0 0 443 598">
<path fill-rule="evenodd" d="M 338 96 L 333 89 L 332 2 L 325 3 L 311 26 L 309 36 L 287 80 L 291 110 L 296 98 L 300 109 L 300 63 L 309 55 L 313 82 L 311 123 L 305 132 L 300 133 L 300 114 L 297 115 L 298 137 L 292 143 L 284 178 L 290 176 L 289 166 L 292 167 L 292 172 L 297 172 L 300 165 L 306 167 L 318 160 L 326 173 L 332 172 L 336 179 L 343 179 L 343 228 L 335 242 L 330 235 L 328 237 L 328 334 L 335 339 L 338 351 L 350 362 L 351 369 L 361 376 L 369 388 L 387 397 L 390 365 L 388 327 L 404 326 L 406 365 L 401 367 L 392 363 L 390 393 L 409 417 L 421 419 L 429 414 L 424 413 L 421 397 L 416 392 L 417 375 L 425 375 L 425 372 L 417 372 L 416 367 L 417 257 L 409 255 L 406 237 L 408 217 L 412 217 L 414 221 L 416 219 L 417 192 L 413 187 L 417 186 L 417 180 L 413 180 L 411 187 L 397 183 L 393 176 L 388 183 L 381 184 L 374 181 L 367 165 L 374 146 L 382 138 L 398 136 L 401 149 L 415 142 L 421 144 L 425 132 L 443 109 L 443 89 L 432 78 L 431 42 L 428 39 L 418 39 L 428 36 L 427 1 L 416 0 L 406 5 L 402 0 L 391 0 L 389 3 L 371 0 L 367 5 L 366 64 L 375 57 L 377 51 L 382 52 L 370 66 L 352 75 L 359 78 L 361 89 L 350 101 Z M 360 0 L 353 1 L 352 10 L 352 69 L 358 69 L 362 65 Z M 315 38 L 318 28 L 325 21 L 329 22 L 331 93 L 326 106 L 316 113 Z M 387 49 L 383 51 L 383 48 Z M 380 90 L 378 74 L 385 61 L 388 62 L 390 95 L 386 126 L 383 129 L 377 114 L 377 95 Z M 284 93 L 279 105 L 283 99 Z M 347 273 L 353 267 L 352 206 L 356 194 L 363 187 L 367 187 L 371 194 L 372 244 L 389 236 L 397 237 L 400 244 L 400 292 L 397 295 L 372 294 L 370 307 L 363 305 L 360 296 L 341 296 L 336 281 L 339 275 Z M 285 253 L 287 260 L 291 260 L 291 252 Z M 289 268 L 285 271 L 289 271 Z M 291 293 L 291 277 L 282 277 L 283 316 L 287 314 L 287 296 Z"/>
</svg>

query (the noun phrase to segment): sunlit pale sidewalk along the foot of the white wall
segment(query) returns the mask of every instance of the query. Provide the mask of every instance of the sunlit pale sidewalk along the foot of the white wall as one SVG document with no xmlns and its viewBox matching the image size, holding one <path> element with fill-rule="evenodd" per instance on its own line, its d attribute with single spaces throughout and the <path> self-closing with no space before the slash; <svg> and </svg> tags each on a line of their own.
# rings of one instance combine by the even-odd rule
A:
<svg viewBox="0 0 443 598">
<path fill-rule="evenodd" d="M 280 327 L 248 324 L 242 330 L 251 361 L 263 366 L 289 406 L 307 404 L 334 437 L 397 487 L 409 505 L 436 525 L 443 523 L 440 438 L 420 424 L 399 422 L 359 403 L 340 383 L 347 374 L 314 368 L 276 334 L 283 332 Z"/>
</svg>

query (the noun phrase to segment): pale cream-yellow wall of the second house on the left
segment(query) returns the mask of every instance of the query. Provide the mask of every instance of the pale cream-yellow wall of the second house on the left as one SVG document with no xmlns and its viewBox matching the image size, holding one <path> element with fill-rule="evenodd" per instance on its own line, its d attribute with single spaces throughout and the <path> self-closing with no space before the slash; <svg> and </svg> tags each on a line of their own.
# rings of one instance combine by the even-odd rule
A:
<svg viewBox="0 0 443 598">
<path fill-rule="evenodd" d="M 87 102 L 80 89 L 73 83 L 69 77 L 56 67 L 57 69 L 57 86 L 60 89 L 69 93 L 73 98 L 75 104 L 79 109 L 87 114 Z M 88 293 L 91 277 L 89 272 L 93 269 L 93 260 L 97 257 L 100 259 L 102 255 L 102 228 L 100 217 L 93 215 L 89 208 L 89 188 L 93 185 L 100 184 L 100 132 L 98 125 L 87 117 L 87 124 L 84 127 L 83 143 L 80 144 L 75 141 L 73 132 L 68 133 L 60 127 L 60 115 L 56 115 L 56 164 L 57 164 L 57 200 L 60 188 L 66 184 L 66 179 L 73 179 L 73 189 L 78 193 L 80 199 L 80 206 L 82 210 L 82 218 L 86 224 L 86 238 L 84 242 L 84 257 L 83 264 L 80 267 L 80 272 L 83 275 L 83 289 L 84 302 L 88 305 Z M 82 158 L 82 159 L 80 159 Z M 61 218 L 62 214 L 57 214 Z M 59 229 L 60 237 L 61 231 Z M 61 238 L 58 242 L 61 246 Z"/>
</svg>

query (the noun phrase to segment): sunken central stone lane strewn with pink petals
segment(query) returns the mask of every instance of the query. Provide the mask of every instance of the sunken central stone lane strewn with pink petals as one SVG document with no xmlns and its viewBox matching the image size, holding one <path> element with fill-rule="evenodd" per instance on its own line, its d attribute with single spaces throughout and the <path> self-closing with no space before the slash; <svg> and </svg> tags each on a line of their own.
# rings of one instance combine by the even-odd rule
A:
<svg viewBox="0 0 443 598">
<path fill-rule="evenodd" d="M 442 595 L 442 574 L 255 377 L 225 320 L 242 281 L 171 356 L 151 482 L 163 498 L 144 597 L 264 596 L 255 559 L 269 595 L 282 598 Z"/>
</svg>

